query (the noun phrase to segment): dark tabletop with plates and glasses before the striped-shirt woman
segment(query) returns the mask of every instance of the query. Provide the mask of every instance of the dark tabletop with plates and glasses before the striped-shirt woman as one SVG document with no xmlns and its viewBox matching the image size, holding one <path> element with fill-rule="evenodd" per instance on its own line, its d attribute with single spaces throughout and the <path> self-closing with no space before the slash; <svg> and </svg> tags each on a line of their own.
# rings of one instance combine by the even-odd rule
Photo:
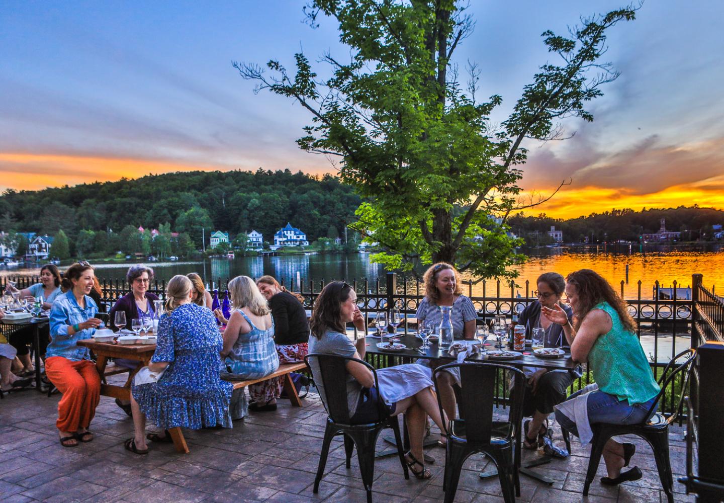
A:
<svg viewBox="0 0 724 503">
<path fill-rule="evenodd" d="M 451 357 L 450 354 L 447 354 L 447 352 L 441 352 L 439 349 L 439 346 L 436 344 L 430 343 L 430 349 L 427 349 L 426 352 L 420 353 L 416 351 L 420 346 L 422 346 L 422 340 L 414 335 L 408 334 L 407 336 L 400 336 L 400 343 L 405 344 L 408 348 L 411 349 L 405 349 L 400 352 L 390 352 L 390 351 L 384 351 L 384 349 L 379 349 L 377 347 L 377 343 L 381 342 L 379 338 L 375 337 L 367 337 L 366 338 L 366 352 L 367 354 L 387 354 L 397 357 L 405 357 L 405 358 L 423 358 L 423 359 L 439 359 L 439 360 L 445 360 L 446 362 L 452 362 L 455 360 L 455 358 Z M 492 346 L 486 346 L 489 349 L 493 349 Z M 530 349 L 526 349 L 524 353 L 529 354 L 523 354 L 522 357 L 516 358 L 516 359 L 510 359 L 510 360 L 497 360 L 497 359 L 476 359 L 476 358 L 470 358 L 466 361 L 468 362 L 492 362 L 492 363 L 501 363 L 502 365 L 513 365 L 514 367 L 540 367 L 540 368 L 547 368 L 547 369 L 565 369 L 565 370 L 573 370 L 578 366 L 578 363 L 574 362 L 573 359 L 571 359 L 570 354 L 566 354 L 564 357 L 560 358 L 539 358 L 534 356 L 534 354 L 531 353 Z"/>
</svg>

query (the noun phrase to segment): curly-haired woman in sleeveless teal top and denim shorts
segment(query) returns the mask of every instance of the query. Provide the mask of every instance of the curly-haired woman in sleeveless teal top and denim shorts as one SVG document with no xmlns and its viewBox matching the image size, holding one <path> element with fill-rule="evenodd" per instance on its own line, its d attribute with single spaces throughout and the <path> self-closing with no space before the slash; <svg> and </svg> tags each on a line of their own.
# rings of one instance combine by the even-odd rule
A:
<svg viewBox="0 0 724 503">
<path fill-rule="evenodd" d="M 596 384 L 569 396 L 556 407 L 555 418 L 561 428 L 586 444 L 592 438 L 592 424 L 629 425 L 648 420 L 660 388 L 636 337 L 636 322 L 628 315 L 626 302 L 601 275 L 590 269 L 569 274 L 565 294 L 576 313 L 573 320 L 557 305 L 543 307 L 542 315 L 563 326 L 571 357 L 589 362 Z M 634 444 L 610 438 L 603 452 L 608 476 L 601 482 L 617 485 L 641 478 L 639 467 L 621 473 L 635 450 Z"/>
</svg>

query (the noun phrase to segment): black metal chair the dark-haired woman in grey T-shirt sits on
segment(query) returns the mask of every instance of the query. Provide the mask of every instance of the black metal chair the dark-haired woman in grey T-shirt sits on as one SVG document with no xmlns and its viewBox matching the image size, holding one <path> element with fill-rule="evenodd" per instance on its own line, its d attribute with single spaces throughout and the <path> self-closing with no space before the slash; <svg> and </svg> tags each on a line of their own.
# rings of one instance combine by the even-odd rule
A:
<svg viewBox="0 0 724 503">
<path fill-rule="evenodd" d="M 313 373 L 309 362 L 317 359 L 319 373 Z M 345 440 L 345 453 L 347 455 L 347 467 L 350 467 L 352 452 L 357 447 L 357 457 L 360 464 L 362 483 L 367 491 L 367 502 L 372 502 L 372 478 L 374 476 L 375 445 L 379 433 L 385 428 L 392 428 L 397 443 L 397 454 L 400 456 L 400 463 L 403 465 L 405 478 L 410 478 L 408 467 L 405 463 L 403 442 L 400 436 L 400 423 L 397 417 L 390 417 L 384 410 L 382 402 L 378 402 L 379 415 L 374 423 L 363 425 L 350 424 L 350 414 L 347 404 L 347 362 L 358 362 L 369 368 L 374 375 L 374 386 L 379 389 L 377 373 L 374 367 L 361 359 L 342 357 L 336 354 L 310 353 L 304 357 L 304 362 L 313 375 L 314 382 L 324 388 L 325 400 L 322 401 L 327 410 L 327 426 L 324 429 L 324 441 L 322 441 L 321 452 L 319 453 L 319 466 L 317 467 L 316 478 L 314 478 L 314 493 L 319 491 L 319 482 L 324 475 L 324 466 L 327 464 L 327 454 L 332 438 L 343 435 Z"/>
</svg>

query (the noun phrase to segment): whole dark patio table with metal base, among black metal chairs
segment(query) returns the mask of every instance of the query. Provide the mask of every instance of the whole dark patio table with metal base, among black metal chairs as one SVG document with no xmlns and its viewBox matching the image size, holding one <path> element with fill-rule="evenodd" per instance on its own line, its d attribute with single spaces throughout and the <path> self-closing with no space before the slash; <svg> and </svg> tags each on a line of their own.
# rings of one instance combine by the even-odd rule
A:
<svg viewBox="0 0 724 503">
<path fill-rule="evenodd" d="M 447 354 L 447 352 L 442 352 L 439 349 L 439 346 L 437 343 L 430 344 L 430 348 L 423 350 L 420 349 L 422 346 L 422 340 L 418 338 L 417 336 L 413 334 L 397 334 L 395 336 L 397 339 L 399 339 L 399 342 L 401 344 L 405 344 L 406 347 L 410 349 L 403 349 L 403 351 L 385 351 L 384 349 L 379 349 L 377 347 L 377 343 L 380 342 L 379 338 L 374 337 L 366 337 L 366 354 L 375 354 L 375 355 L 384 355 L 387 357 L 400 357 L 404 360 L 412 360 L 412 359 L 433 359 L 437 360 L 441 363 L 447 363 L 455 360 L 455 358 L 451 357 L 450 354 Z M 527 353 L 527 354 L 526 354 Z M 574 362 L 571 358 L 570 354 L 565 354 L 565 356 L 560 358 L 539 358 L 534 356 L 530 351 L 523 352 L 523 355 L 516 359 L 510 359 L 510 360 L 491 360 L 491 359 L 481 359 L 481 358 L 468 358 L 466 361 L 470 362 L 500 362 L 503 365 L 512 365 L 513 367 L 538 367 L 538 368 L 545 368 L 547 370 L 573 370 L 576 367 L 578 367 L 578 363 Z M 517 433 L 515 434 L 515 463 L 518 465 L 518 467 L 521 467 L 521 428 L 520 425 L 518 425 Z M 406 433 L 406 428 L 405 428 Z M 529 475 L 533 478 L 536 478 L 539 481 L 552 484 L 552 479 L 546 477 L 545 475 L 541 475 L 539 473 L 536 473 L 534 470 L 529 470 L 530 467 L 543 465 L 547 462 L 550 462 L 552 460 L 551 457 L 542 457 L 539 460 L 536 460 L 534 462 L 529 463 L 529 465 L 526 465 L 525 467 L 520 468 L 520 472 Z M 487 472 L 481 473 L 480 476 L 483 478 L 492 477 L 494 475 L 497 475 L 497 470 L 489 470 Z"/>
</svg>

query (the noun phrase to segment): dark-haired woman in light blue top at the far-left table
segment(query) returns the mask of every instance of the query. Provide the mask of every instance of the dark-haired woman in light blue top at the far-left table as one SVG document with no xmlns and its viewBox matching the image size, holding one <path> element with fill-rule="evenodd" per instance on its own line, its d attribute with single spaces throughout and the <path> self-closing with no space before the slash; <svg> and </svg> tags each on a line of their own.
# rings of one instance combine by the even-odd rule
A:
<svg viewBox="0 0 724 503">
<path fill-rule="evenodd" d="M 58 267 L 54 264 L 43 265 L 43 267 L 41 267 L 40 283 L 23 288 L 20 291 L 20 298 L 30 301 L 42 298 L 43 309 L 48 310 L 53 305 L 55 299 L 62 294 L 60 282 L 61 278 Z M 32 326 L 20 328 L 20 330 L 11 333 L 9 337 L 9 343 L 15 348 L 17 358 L 20 359 L 22 363 L 22 370 L 20 370 L 19 373 L 22 377 L 35 373 L 35 367 L 30 359 L 30 351 L 28 351 L 28 344 L 33 344 L 33 338 L 35 338 L 35 328 Z M 48 325 L 43 325 L 38 328 L 38 341 L 40 342 L 39 352 L 41 357 L 45 357 L 46 348 L 50 342 Z"/>
</svg>

